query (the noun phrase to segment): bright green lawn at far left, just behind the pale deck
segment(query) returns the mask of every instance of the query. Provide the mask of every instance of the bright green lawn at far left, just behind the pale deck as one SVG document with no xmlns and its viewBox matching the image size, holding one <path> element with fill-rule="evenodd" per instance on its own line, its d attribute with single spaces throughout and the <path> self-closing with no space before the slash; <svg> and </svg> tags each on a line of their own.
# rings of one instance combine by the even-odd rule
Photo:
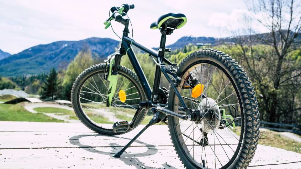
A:
<svg viewBox="0 0 301 169">
<path fill-rule="evenodd" d="M 30 113 L 20 104 L 0 104 L 0 121 L 65 122 L 43 113 Z"/>
</svg>

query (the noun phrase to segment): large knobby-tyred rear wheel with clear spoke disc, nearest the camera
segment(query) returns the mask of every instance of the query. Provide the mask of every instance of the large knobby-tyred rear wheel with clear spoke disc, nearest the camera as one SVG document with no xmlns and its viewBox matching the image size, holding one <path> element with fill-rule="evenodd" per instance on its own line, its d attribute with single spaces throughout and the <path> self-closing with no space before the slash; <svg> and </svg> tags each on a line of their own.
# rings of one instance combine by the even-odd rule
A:
<svg viewBox="0 0 301 169">
<path fill-rule="evenodd" d="M 192 87 L 183 87 L 192 86 L 191 74 L 204 85 L 206 97 L 192 97 Z M 182 61 L 177 75 L 182 78 L 177 89 L 187 107 L 206 115 L 194 121 L 168 116 L 182 163 L 187 168 L 246 168 L 258 143 L 259 108 L 244 69 L 219 50 L 201 49 Z M 177 112 L 179 106 L 183 105 L 171 89 L 168 108 Z"/>
</svg>

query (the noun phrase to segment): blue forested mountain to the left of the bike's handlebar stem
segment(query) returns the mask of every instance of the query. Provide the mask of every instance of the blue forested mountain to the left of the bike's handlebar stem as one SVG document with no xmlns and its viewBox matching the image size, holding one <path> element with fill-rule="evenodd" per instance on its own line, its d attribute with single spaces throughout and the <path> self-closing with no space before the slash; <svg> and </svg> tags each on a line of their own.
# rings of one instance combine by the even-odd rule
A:
<svg viewBox="0 0 301 169">
<path fill-rule="evenodd" d="M 79 41 L 58 41 L 41 44 L 8 56 L 0 62 L 2 76 L 38 74 L 53 67 L 65 69 L 83 49 L 90 49 L 95 57 L 105 58 L 115 52 L 119 41 L 110 38 L 87 38 Z"/>
</svg>

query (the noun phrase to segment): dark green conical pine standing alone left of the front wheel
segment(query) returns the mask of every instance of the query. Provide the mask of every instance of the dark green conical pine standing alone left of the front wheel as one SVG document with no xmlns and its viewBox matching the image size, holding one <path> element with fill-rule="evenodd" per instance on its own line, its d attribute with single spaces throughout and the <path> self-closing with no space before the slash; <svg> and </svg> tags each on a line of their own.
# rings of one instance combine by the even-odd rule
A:
<svg viewBox="0 0 301 169">
<path fill-rule="evenodd" d="M 60 85 L 59 80 L 57 78 L 57 72 L 55 71 L 55 68 L 50 70 L 50 73 L 48 74 L 43 86 L 42 86 L 42 92 L 41 92 L 41 98 L 49 98 L 51 97 L 51 100 L 54 100 L 55 96 L 60 95 Z"/>
</svg>

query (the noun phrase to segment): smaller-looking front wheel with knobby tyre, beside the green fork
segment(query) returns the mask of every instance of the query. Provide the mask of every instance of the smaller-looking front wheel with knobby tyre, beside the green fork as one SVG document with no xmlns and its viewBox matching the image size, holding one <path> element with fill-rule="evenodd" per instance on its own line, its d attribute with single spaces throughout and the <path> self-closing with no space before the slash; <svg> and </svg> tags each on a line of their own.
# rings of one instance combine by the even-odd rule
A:
<svg viewBox="0 0 301 169">
<path fill-rule="evenodd" d="M 106 106 L 109 81 L 104 79 L 106 64 L 97 64 L 84 70 L 75 80 L 71 91 L 71 102 L 79 120 L 91 130 L 104 135 L 119 135 L 114 133 L 113 124 L 117 121 L 133 119 L 140 101 L 146 97 L 138 77 L 128 68 L 118 66 L 118 81 L 111 106 Z M 123 90 L 126 100 L 119 98 L 119 91 Z M 146 115 L 145 110 L 140 113 L 134 128 L 138 126 Z M 126 132 L 131 131 L 129 129 Z"/>
</svg>

